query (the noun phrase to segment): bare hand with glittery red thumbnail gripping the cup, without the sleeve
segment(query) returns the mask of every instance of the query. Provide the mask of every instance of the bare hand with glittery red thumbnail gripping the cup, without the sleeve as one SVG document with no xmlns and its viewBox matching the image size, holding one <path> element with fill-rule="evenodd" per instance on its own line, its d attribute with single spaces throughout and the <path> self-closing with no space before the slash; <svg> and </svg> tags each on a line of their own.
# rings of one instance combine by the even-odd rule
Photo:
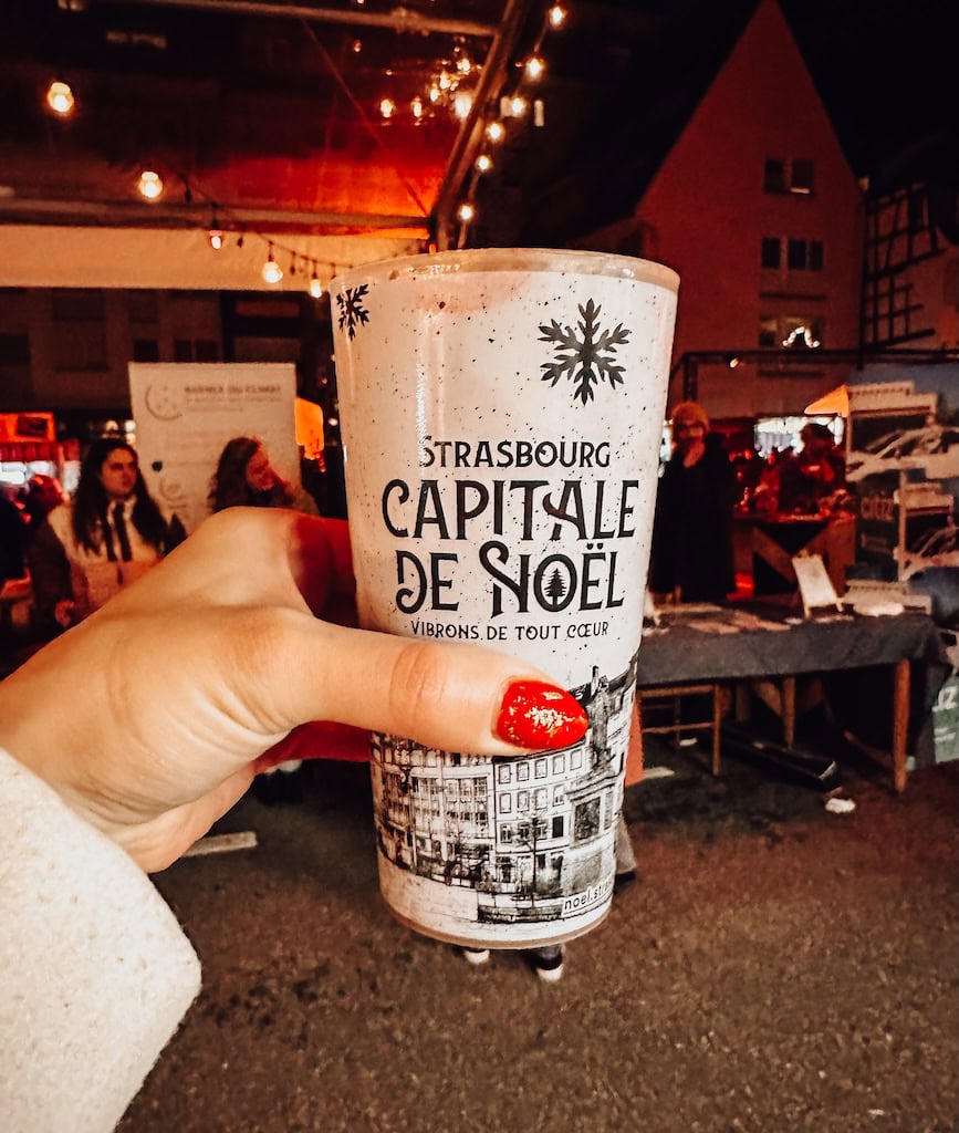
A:
<svg viewBox="0 0 959 1133">
<path fill-rule="evenodd" d="M 0 683 L 0 746 L 157 870 L 311 719 L 488 755 L 584 734 L 565 692 L 517 693 L 548 681 L 522 662 L 334 624 L 352 590 L 345 523 L 221 512 Z"/>
</svg>

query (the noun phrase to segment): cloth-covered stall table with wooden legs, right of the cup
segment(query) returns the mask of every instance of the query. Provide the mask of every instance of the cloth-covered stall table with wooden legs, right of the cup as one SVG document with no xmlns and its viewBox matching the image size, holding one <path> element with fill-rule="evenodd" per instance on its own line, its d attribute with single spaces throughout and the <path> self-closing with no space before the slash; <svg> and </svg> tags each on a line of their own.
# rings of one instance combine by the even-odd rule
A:
<svg viewBox="0 0 959 1133">
<path fill-rule="evenodd" d="M 897 616 L 833 616 L 796 621 L 761 619 L 743 611 L 717 610 L 710 616 L 667 615 L 643 636 L 636 671 L 640 704 L 650 697 L 713 692 L 743 681 L 782 682 L 781 712 L 787 744 L 795 729 L 795 679 L 838 670 L 893 667 L 891 763 L 896 790 L 906 785 L 906 733 L 909 722 L 910 662 L 945 663 L 935 622 L 919 613 Z M 700 726 L 707 726 L 705 724 Z M 718 724 L 713 726 L 713 770 L 719 769 Z"/>
</svg>

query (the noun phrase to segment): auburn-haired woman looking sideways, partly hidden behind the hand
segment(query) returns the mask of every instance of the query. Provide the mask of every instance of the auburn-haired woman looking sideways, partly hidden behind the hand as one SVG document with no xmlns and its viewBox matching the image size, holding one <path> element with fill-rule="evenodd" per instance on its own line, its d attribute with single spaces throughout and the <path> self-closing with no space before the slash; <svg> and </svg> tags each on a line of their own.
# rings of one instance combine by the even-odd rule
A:
<svg viewBox="0 0 959 1133">
<path fill-rule="evenodd" d="M 276 471 L 264 443 L 252 436 L 228 441 L 209 484 L 209 506 L 214 514 L 228 508 L 291 508 L 316 516 L 314 499 L 294 488 Z M 254 781 L 254 794 L 267 807 L 300 802 L 301 759 L 285 759 Z"/>
</svg>

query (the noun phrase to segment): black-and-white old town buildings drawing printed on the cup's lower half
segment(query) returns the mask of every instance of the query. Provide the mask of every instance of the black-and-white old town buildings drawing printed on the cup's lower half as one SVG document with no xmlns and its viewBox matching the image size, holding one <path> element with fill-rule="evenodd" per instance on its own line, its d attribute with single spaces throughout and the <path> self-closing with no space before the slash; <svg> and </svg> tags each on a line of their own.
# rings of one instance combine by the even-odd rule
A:
<svg viewBox="0 0 959 1133">
<path fill-rule="evenodd" d="M 562 751 L 489 759 L 373 739 L 377 840 L 385 868 L 443 883 L 447 928 L 545 925 L 602 904 L 611 891 L 613 828 L 636 657 L 608 679 L 593 666 L 570 691 L 590 726 Z M 388 864 L 386 864 L 388 863 Z"/>
</svg>

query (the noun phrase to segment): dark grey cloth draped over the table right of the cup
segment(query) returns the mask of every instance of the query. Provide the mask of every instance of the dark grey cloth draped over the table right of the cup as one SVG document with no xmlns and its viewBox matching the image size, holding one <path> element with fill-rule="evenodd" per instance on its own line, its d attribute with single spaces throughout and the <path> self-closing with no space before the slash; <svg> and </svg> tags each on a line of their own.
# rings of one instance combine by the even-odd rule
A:
<svg viewBox="0 0 959 1133">
<path fill-rule="evenodd" d="M 736 633 L 674 623 L 665 632 L 644 634 L 636 684 L 823 673 L 892 665 L 904 658 L 948 664 L 935 622 L 926 614 L 853 616 Z"/>
</svg>

